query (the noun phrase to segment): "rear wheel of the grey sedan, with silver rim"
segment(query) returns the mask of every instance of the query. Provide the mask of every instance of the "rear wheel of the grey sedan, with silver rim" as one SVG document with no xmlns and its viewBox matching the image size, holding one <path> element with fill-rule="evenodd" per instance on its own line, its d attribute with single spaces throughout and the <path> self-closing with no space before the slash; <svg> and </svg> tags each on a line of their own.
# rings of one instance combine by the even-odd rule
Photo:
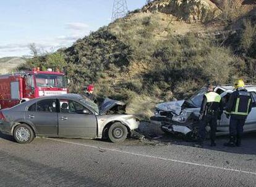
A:
<svg viewBox="0 0 256 187">
<path fill-rule="evenodd" d="M 17 143 L 21 144 L 30 143 L 35 138 L 35 133 L 27 124 L 17 125 L 14 129 L 13 135 Z"/>
</svg>

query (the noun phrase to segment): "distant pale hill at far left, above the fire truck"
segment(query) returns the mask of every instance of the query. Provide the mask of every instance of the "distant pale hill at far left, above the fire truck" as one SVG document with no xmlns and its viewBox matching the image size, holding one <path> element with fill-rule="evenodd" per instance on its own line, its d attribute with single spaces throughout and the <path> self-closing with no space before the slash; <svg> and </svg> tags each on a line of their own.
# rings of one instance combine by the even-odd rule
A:
<svg viewBox="0 0 256 187">
<path fill-rule="evenodd" d="M 25 63 L 25 58 L 21 57 L 4 57 L 0 58 L 0 74 L 11 73 L 16 71 L 18 66 Z"/>
</svg>

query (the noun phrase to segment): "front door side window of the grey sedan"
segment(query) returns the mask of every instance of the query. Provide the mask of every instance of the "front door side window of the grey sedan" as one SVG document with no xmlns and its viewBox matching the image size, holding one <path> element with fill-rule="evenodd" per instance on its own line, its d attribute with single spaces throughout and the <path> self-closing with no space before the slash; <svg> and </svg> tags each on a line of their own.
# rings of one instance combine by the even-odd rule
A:
<svg viewBox="0 0 256 187">
<path fill-rule="evenodd" d="M 59 103 L 61 113 L 82 114 L 84 109 L 88 110 L 85 106 L 73 100 L 59 100 Z"/>
</svg>

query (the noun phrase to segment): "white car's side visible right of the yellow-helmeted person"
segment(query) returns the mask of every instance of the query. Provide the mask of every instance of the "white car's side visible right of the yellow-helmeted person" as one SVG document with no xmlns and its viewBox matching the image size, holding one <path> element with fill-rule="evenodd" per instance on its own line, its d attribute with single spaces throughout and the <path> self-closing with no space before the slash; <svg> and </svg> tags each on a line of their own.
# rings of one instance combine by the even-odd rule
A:
<svg viewBox="0 0 256 187">
<path fill-rule="evenodd" d="M 256 92 L 250 92 L 252 96 L 252 111 L 247 117 L 244 131 L 256 130 Z"/>
</svg>

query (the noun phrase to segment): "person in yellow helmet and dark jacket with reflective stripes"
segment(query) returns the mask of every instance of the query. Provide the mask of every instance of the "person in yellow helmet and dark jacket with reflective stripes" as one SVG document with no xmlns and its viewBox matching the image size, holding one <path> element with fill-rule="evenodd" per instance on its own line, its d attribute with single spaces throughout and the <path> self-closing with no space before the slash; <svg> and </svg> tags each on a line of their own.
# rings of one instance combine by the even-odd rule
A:
<svg viewBox="0 0 256 187">
<path fill-rule="evenodd" d="M 244 81 L 239 79 L 235 82 L 236 91 L 229 97 L 228 105 L 225 108 L 225 114 L 230 119 L 229 123 L 229 141 L 224 146 L 241 146 L 244 124 L 252 110 L 252 97 L 244 88 Z"/>
</svg>

